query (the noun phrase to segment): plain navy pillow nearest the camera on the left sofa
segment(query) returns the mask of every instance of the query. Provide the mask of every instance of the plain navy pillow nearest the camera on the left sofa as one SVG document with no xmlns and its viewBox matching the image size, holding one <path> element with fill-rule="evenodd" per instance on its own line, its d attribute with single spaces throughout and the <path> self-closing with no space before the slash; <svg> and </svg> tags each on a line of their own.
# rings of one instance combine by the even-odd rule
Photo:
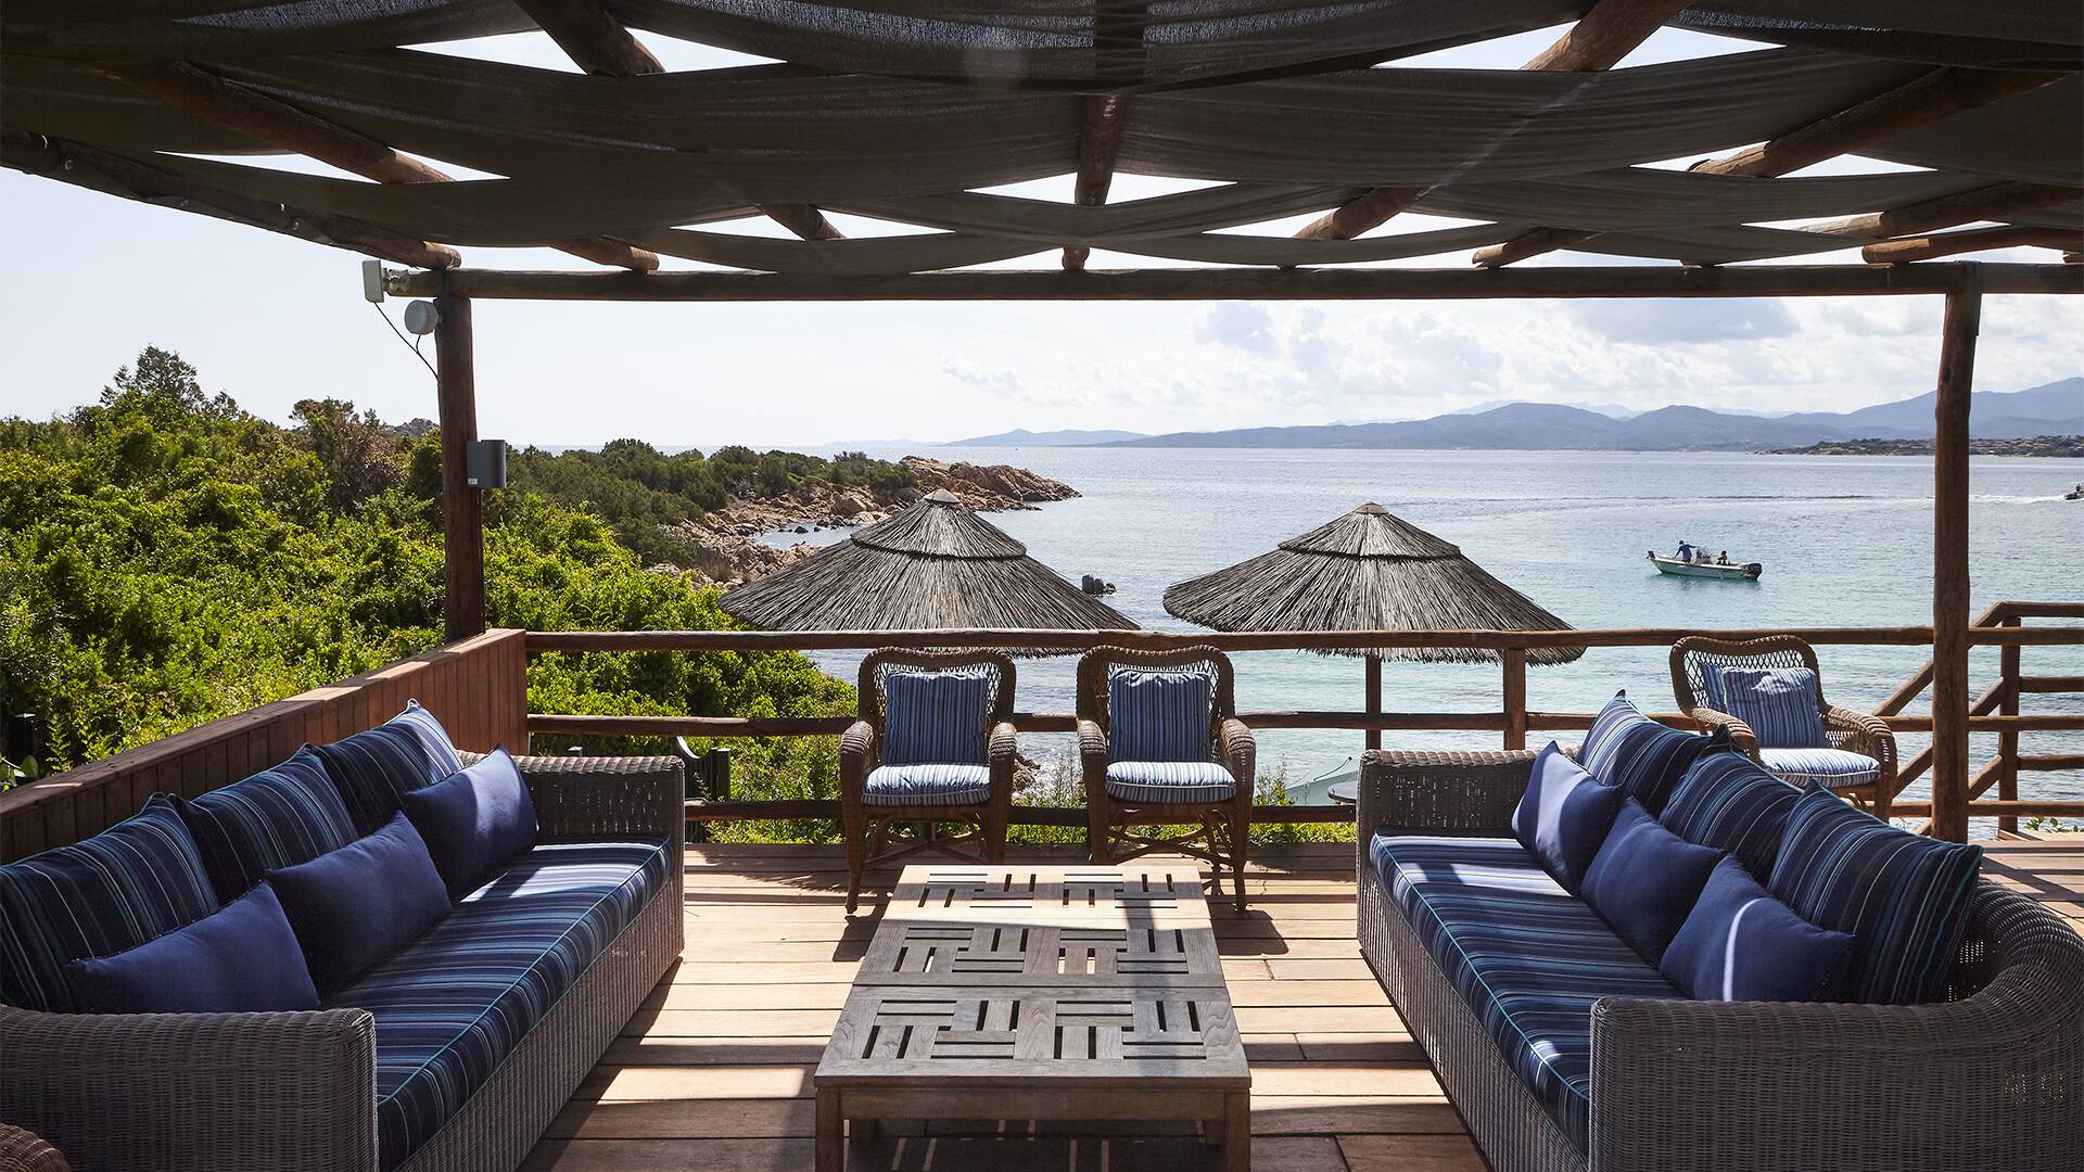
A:
<svg viewBox="0 0 2084 1172">
<path fill-rule="evenodd" d="M 296 932 L 260 884 L 225 907 L 113 957 L 77 959 L 85 1014 L 260 1014 L 317 1009 Z"/>
</svg>

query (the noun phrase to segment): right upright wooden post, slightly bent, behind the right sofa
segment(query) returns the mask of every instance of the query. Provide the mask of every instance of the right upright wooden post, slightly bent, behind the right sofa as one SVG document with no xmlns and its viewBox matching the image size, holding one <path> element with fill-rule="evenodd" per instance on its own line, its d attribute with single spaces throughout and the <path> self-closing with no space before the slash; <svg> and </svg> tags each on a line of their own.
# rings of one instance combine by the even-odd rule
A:
<svg viewBox="0 0 2084 1172">
<path fill-rule="evenodd" d="M 1932 834 L 1967 840 L 1967 411 L 1982 269 L 1946 294 L 1932 432 Z"/>
</svg>

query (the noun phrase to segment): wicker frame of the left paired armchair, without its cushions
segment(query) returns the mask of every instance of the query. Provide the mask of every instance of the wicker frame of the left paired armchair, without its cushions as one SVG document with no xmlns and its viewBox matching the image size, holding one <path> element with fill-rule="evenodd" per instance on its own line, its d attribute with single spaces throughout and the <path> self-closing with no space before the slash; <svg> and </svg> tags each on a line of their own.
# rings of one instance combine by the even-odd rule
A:
<svg viewBox="0 0 2084 1172">
<path fill-rule="evenodd" d="M 871 780 L 884 765 L 890 713 L 888 684 L 900 672 L 979 672 L 990 680 L 984 757 L 965 761 L 982 765 L 990 778 L 984 801 L 932 801 L 915 795 L 904 801 L 879 797 Z M 840 736 L 840 815 L 846 826 L 846 911 L 861 901 L 861 874 L 919 851 L 940 851 L 957 859 L 998 863 L 1007 857 L 1007 817 L 1013 813 L 1013 661 L 996 651 L 896 651 L 886 649 L 861 661 L 859 713 Z M 952 838 L 940 836 L 942 822 L 965 822 L 969 830 Z M 902 826 L 913 824 L 907 834 Z M 963 847 L 969 847 L 965 853 Z"/>
</svg>

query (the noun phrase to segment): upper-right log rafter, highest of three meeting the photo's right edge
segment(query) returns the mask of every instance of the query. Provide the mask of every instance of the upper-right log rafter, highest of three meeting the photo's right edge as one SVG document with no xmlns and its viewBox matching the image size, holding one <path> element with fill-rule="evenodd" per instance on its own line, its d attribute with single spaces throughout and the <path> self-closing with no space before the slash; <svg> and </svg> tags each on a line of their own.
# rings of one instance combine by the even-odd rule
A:
<svg viewBox="0 0 2084 1172">
<path fill-rule="evenodd" d="M 1855 154 L 1863 146 L 1892 133 L 1936 123 L 1961 111 L 1986 106 L 2011 94 L 2038 90 L 2067 73 L 2030 73 L 2001 69 L 1934 69 L 1830 117 L 1788 129 L 1773 140 L 1738 150 L 1723 158 L 1696 163 L 1690 171 L 1705 175 L 1748 175 L 1773 179 L 1813 163 Z M 1557 248 L 1584 244 L 1601 236 L 1576 227 L 1536 227 L 1523 236 L 1482 248 L 1471 257 L 1486 269 L 1540 257 Z"/>
</svg>

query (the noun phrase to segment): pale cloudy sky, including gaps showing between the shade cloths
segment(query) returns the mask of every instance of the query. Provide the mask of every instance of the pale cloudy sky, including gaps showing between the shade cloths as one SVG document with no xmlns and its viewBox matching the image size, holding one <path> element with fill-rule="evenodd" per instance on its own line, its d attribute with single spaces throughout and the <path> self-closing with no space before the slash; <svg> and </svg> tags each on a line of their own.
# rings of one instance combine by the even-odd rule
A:
<svg viewBox="0 0 2084 1172">
<path fill-rule="evenodd" d="M 1555 35 L 1542 29 L 1400 65 L 1509 69 Z M 752 60 L 644 40 L 669 69 Z M 425 48 L 571 69 L 540 33 Z M 1665 29 L 1621 67 L 1748 48 L 1757 46 Z M 267 165 L 336 173 L 308 161 Z M 1901 167 L 1840 158 L 1803 173 L 1888 169 Z M 1192 186 L 1119 175 L 1111 198 Z M 1069 200 L 1071 177 L 998 190 Z M 1309 219 L 1242 231 L 1282 234 Z M 834 223 L 848 236 L 915 231 L 857 217 Z M 1407 215 L 1382 231 L 1457 223 Z M 765 219 L 711 227 L 784 234 Z M 2044 250 L 1984 257 L 2051 259 Z M 386 313 L 396 321 L 404 302 L 363 300 L 356 252 L 0 171 L 0 259 L 10 277 L 0 292 L 0 346 L 10 355 L 0 415 L 48 417 L 90 402 L 148 344 L 181 352 L 208 390 L 277 421 L 315 396 L 348 398 L 392 421 L 436 413 L 427 369 L 377 319 Z M 1857 261 L 1857 252 L 1809 261 Z M 465 263 L 588 267 L 561 252 L 500 248 L 467 248 Z M 1523 261 L 1557 263 L 1623 261 Z M 1105 250 L 1090 261 L 1094 269 L 1152 265 L 1163 261 Z M 1463 254 L 1390 263 L 1463 265 Z M 1057 254 L 992 267 L 1055 269 Z M 1415 419 L 1513 398 L 1849 411 L 1932 390 L 1938 323 L 1938 298 L 479 302 L 475 342 L 483 436 L 559 446 L 640 436 L 711 448 L 932 442 L 1011 428 L 1177 432 Z M 431 342 L 425 350 L 431 359 Z M 2084 298 L 1986 298 L 1980 390 L 2021 390 L 2076 373 L 2084 373 Z"/>
</svg>

